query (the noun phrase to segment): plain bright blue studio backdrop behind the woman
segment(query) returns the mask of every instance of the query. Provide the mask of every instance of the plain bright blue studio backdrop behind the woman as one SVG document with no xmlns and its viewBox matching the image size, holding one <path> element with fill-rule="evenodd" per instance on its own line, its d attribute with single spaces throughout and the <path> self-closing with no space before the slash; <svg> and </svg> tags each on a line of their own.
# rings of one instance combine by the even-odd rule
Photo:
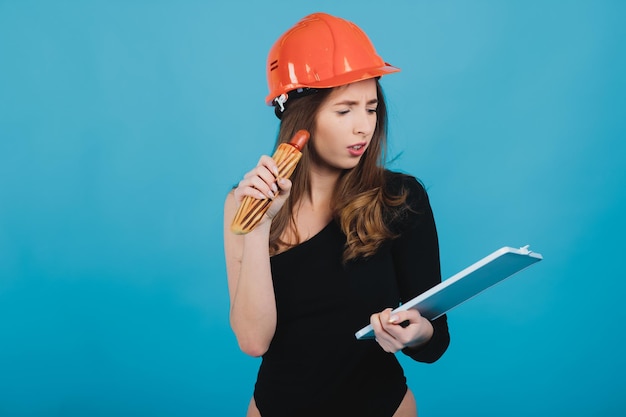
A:
<svg viewBox="0 0 626 417">
<path fill-rule="evenodd" d="M 243 415 L 222 205 L 273 147 L 266 54 L 314 11 L 403 70 L 390 166 L 444 278 L 545 257 L 451 312 L 439 362 L 401 358 L 420 415 L 624 414 L 625 4 L 0 0 L 0 415 Z"/>
</svg>

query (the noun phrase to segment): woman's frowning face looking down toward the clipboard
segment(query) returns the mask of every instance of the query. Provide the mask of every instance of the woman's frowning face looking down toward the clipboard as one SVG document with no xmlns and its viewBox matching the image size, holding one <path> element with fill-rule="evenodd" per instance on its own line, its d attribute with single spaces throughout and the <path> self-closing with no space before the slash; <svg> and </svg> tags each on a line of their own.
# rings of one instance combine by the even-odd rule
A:
<svg viewBox="0 0 626 417">
<path fill-rule="evenodd" d="M 335 88 L 320 106 L 312 141 L 320 166 L 354 168 L 376 129 L 378 95 L 374 79 Z"/>
</svg>

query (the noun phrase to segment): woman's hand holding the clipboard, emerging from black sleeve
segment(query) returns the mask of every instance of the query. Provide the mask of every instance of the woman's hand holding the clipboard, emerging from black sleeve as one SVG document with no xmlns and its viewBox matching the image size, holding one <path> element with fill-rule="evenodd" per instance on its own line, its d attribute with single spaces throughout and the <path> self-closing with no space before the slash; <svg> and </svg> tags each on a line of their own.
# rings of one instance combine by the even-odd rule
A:
<svg viewBox="0 0 626 417">
<path fill-rule="evenodd" d="M 414 308 L 391 314 L 387 308 L 372 314 L 370 323 L 376 341 L 385 352 L 395 353 L 405 347 L 418 347 L 433 336 L 433 326 Z"/>
</svg>

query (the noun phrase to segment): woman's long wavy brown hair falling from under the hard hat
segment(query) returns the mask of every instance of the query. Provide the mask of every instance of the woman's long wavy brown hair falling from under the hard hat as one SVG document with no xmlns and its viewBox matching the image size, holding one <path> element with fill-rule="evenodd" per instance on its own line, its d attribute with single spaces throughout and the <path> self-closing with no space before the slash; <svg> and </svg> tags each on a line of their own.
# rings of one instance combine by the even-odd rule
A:
<svg viewBox="0 0 626 417">
<path fill-rule="evenodd" d="M 311 132 L 311 141 L 315 140 L 315 118 L 320 106 L 327 99 L 332 89 L 319 90 L 289 103 L 281 118 L 276 146 L 288 142 L 299 129 Z M 391 195 L 385 187 L 385 158 L 387 151 L 387 107 L 382 88 L 376 80 L 378 106 L 377 123 L 368 149 L 358 165 L 344 170 L 337 182 L 331 200 L 333 218 L 346 235 L 344 262 L 373 255 L 380 245 L 395 237 L 386 220 L 389 212 L 404 205 L 406 195 Z M 292 174 L 293 187 L 289 200 L 274 217 L 270 232 L 270 253 L 278 253 L 281 248 L 299 243 L 294 209 L 302 196 L 310 194 L 309 173 L 311 161 L 318 156 L 313 146 L 306 146 L 302 152 L 296 170 Z M 295 241 L 290 244 L 281 239 L 283 233 L 291 228 Z"/>
</svg>

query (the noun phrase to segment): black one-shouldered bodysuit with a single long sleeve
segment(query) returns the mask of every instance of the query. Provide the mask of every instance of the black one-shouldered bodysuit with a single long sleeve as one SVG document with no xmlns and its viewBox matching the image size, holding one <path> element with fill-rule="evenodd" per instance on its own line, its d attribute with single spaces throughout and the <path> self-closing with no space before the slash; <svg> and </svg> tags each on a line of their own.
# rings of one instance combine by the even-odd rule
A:
<svg viewBox="0 0 626 417">
<path fill-rule="evenodd" d="M 441 282 L 441 274 L 426 191 L 401 174 L 388 173 L 387 185 L 406 188 L 413 210 L 391 225 L 401 236 L 375 255 L 343 265 L 346 237 L 332 221 L 271 258 L 278 323 L 255 385 L 263 417 L 387 417 L 402 401 L 407 385 L 395 355 L 354 333 L 372 313 Z M 450 340 L 446 316 L 433 327 L 426 345 L 403 352 L 420 362 L 437 360 Z"/>
</svg>

